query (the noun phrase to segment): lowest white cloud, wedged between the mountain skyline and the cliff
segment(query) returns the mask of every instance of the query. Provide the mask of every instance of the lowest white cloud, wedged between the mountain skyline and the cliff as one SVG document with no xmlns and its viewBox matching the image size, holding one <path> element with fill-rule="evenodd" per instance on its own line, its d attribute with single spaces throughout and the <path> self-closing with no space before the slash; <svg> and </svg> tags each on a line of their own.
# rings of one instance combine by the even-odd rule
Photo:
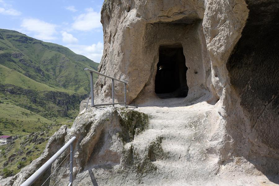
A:
<svg viewBox="0 0 279 186">
<path fill-rule="evenodd" d="M 101 42 L 93 45 L 66 45 L 66 47 L 76 54 L 84 55 L 97 63 L 100 63 L 101 61 L 104 48 L 103 43 Z"/>
</svg>

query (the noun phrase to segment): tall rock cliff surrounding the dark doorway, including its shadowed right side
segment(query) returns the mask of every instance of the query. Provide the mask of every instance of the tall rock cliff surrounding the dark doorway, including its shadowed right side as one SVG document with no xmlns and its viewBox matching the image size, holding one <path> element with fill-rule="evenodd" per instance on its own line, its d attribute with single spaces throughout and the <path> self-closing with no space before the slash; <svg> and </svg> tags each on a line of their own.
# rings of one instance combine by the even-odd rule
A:
<svg viewBox="0 0 279 186">
<path fill-rule="evenodd" d="M 136 106 L 218 101 L 216 123 L 230 146 L 220 151 L 222 161 L 245 157 L 264 174 L 278 173 L 278 6 L 276 0 L 105 1 L 98 70 L 126 80 L 128 102 Z M 188 67 L 188 95 L 160 99 L 160 47 L 177 44 Z M 116 87 L 123 96 L 121 84 Z M 108 97 L 110 90 L 100 77 L 95 95 Z M 110 100 L 96 97 L 101 101 Z"/>
</svg>

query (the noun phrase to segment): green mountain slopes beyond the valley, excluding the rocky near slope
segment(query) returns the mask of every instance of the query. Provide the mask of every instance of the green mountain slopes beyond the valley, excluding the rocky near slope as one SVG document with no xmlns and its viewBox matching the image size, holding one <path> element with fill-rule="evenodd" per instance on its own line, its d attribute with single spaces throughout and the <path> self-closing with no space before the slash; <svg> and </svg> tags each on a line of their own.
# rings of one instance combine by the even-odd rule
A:
<svg viewBox="0 0 279 186">
<path fill-rule="evenodd" d="M 90 92 L 90 75 L 83 69 L 97 70 L 98 65 L 62 45 L 0 29 L 0 104 L 3 110 L 15 108 L 14 114 L 0 115 L 1 132 L 24 135 L 45 128 L 39 121 L 29 128 L 25 115 L 12 119 L 22 109 L 53 123 L 75 118 Z M 12 127 L 24 132 L 9 130 Z"/>
</svg>

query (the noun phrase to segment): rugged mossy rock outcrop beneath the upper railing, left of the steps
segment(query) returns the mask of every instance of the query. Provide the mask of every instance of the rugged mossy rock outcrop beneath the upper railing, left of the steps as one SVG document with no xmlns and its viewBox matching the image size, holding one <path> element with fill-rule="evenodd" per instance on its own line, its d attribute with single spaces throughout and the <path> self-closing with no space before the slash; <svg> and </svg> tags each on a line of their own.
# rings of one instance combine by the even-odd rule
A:
<svg viewBox="0 0 279 186">
<path fill-rule="evenodd" d="M 92 115 L 93 114 L 93 115 Z M 108 108 L 90 108 L 87 111 L 80 113 L 74 121 L 71 129 L 66 125 L 61 127 L 48 141 L 46 149 L 42 155 L 34 160 L 29 166 L 24 167 L 20 173 L 14 177 L 9 177 L 0 180 L 1 185 L 19 185 L 32 175 L 44 162 L 46 162 L 57 149 L 61 148 L 66 141 L 73 136 L 77 137 L 74 142 L 74 175 L 77 178 L 75 185 L 79 184 L 84 174 L 88 174 L 88 166 L 102 167 L 102 169 L 111 169 L 116 166 L 118 171 L 127 172 L 123 169 L 126 166 L 127 158 L 131 156 L 130 148 L 125 148 L 127 143 L 134 140 L 135 135 L 139 135 L 142 131 L 148 128 L 148 116 L 130 109 L 115 109 Z M 36 184 L 42 184 L 44 180 L 50 175 L 51 171 L 55 170 L 61 161 L 69 154 L 69 150 L 58 158 L 51 169 L 37 180 Z M 69 160 L 69 157 L 67 161 Z M 58 174 L 69 174 L 66 165 L 63 162 L 62 167 L 57 169 Z M 139 163 L 144 163 L 138 159 Z M 129 163 L 128 163 L 129 164 Z M 144 165 L 142 165 L 144 166 Z M 119 173 L 118 173 L 119 174 Z M 90 176 L 87 178 L 87 180 Z M 68 178 L 67 178 L 68 180 Z M 64 176 L 60 180 L 56 176 L 51 177 L 49 183 L 58 181 L 59 185 L 65 183 Z M 35 185 L 36 185 L 35 184 Z M 81 185 L 81 184 L 80 184 Z"/>
</svg>

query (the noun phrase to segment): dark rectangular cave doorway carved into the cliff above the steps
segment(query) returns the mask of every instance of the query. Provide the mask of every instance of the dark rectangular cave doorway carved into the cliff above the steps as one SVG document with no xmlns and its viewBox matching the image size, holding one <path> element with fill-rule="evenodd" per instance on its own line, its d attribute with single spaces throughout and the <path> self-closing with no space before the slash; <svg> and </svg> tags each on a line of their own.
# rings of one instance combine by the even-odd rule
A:
<svg viewBox="0 0 279 186">
<path fill-rule="evenodd" d="M 182 45 L 160 46 L 155 93 L 160 98 L 186 97 L 188 86 Z"/>
</svg>

